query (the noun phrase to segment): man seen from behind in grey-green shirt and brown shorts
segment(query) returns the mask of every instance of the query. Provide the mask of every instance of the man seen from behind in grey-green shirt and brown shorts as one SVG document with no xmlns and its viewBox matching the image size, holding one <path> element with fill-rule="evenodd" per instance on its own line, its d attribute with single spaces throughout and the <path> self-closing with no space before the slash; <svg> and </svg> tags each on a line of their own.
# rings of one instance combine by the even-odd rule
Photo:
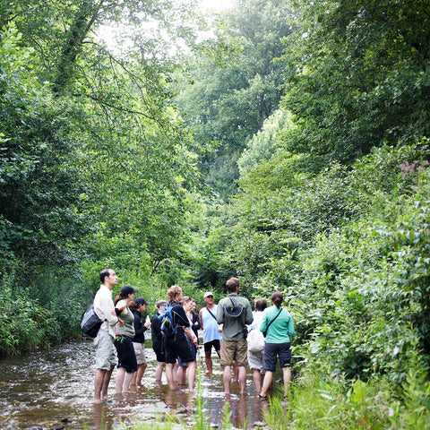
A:
<svg viewBox="0 0 430 430">
<path fill-rule="evenodd" d="M 219 300 L 217 310 L 217 321 L 224 324 L 221 341 L 221 366 L 223 368 L 222 382 L 224 383 L 224 393 L 230 393 L 231 365 L 236 360 L 238 367 L 240 393 L 245 394 L 246 369 L 248 361 L 246 324 L 253 323 L 253 310 L 249 300 L 239 297 L 240 281 L 231 278 L 226 283 L 228 297 Z"/>
</svg>

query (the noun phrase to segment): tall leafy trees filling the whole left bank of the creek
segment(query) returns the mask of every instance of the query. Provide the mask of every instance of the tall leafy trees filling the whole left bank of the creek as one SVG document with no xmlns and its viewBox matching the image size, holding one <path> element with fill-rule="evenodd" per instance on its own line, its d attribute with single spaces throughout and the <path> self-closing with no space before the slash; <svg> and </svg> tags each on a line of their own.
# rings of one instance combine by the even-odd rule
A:
<svg viewBox="0 0 430 430">
<path fill-rule="evenodd" d="M 167 64 L 116 58 L 90 33 L 125 8 L 161 22 L 160 5 L 0 6 L 0 281 L 36 304 L 22 340 L 0 336 L 11 353 L 77 334 L 106 266 L 147 280 L 164 264 L 166 282 L 187 279 L 177 260 L 197 172 Z"/>
</svg>

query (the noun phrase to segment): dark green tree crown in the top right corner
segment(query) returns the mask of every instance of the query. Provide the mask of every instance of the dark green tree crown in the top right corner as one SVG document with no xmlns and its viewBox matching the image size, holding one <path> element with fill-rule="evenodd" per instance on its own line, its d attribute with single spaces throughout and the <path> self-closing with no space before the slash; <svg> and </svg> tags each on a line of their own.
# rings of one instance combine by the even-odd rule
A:
<svg viewBox="0 0 430 430">
<path fill-rule="evenodd" d="M 286 39 L 287 148 L 344 162 L 428 134 L 426 1 L 297 2 Z"/>
</svg>

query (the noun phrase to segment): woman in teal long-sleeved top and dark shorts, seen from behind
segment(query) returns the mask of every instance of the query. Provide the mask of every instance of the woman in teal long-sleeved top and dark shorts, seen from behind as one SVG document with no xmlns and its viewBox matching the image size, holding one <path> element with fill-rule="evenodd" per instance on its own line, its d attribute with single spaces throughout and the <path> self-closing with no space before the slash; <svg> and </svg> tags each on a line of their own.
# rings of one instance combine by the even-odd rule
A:
<svg viewBox="0 0 430 430">
<path fill-rule="evenodd" d="M 276 370 L 276 363 L 280 359 L 280 367 L 284 376 L 284 399 L 287 399 L 288 384 L 291 381 L 291 340 L 294 336 L 293 318 L 289 312 L 280 307 L 284 297 L 280 292 L 271 295 L 273 306 L 268 307 L 262 314 L 260 331 L 266 332 L 264 344 L 264 380 L 262 391 L 258 395 L 260 399 L 267 399 L 267 391 L 271 387 L 273 373 Z"/>
</svg>

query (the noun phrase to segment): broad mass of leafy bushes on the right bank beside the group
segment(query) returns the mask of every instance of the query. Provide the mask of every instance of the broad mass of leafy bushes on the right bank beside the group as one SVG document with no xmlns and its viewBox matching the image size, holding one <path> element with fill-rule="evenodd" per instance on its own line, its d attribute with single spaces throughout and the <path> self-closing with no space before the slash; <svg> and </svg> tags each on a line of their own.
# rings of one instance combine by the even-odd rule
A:
<svg viewBox="0 0 430 430">
<path fill-rule="evenodd" d="M 295 344 L 329 373 L 396 385 L 415 337 L 430 351 L 428 158 L 426 139 L 384 146 L 297 189 L 238 199 L 226 262 L 253 297 L 285 294 Z"/>
</svg>

